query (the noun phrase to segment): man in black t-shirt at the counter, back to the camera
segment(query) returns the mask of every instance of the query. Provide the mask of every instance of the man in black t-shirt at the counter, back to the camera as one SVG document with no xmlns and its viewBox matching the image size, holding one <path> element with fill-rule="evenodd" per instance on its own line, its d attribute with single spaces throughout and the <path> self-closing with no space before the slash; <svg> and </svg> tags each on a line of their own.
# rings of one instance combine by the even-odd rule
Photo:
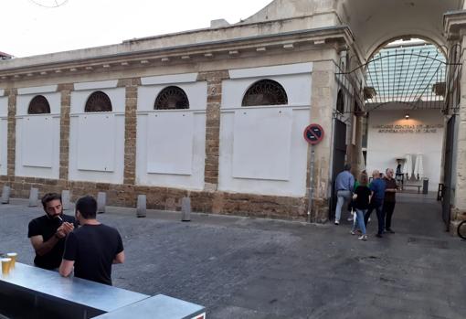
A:
<svg viewBox="0 0 466 319">
<path fill-rule="evenodd" d="M 122 237 L 118 230 L 97 221 L 96 212 L 94 197 L 76 202 L 81 226 L 69 234 L 59 272 L 68 277 L 74 266 L 75 277 L 111 285 L 111 264 L 124 261 Z"/>
</svg>

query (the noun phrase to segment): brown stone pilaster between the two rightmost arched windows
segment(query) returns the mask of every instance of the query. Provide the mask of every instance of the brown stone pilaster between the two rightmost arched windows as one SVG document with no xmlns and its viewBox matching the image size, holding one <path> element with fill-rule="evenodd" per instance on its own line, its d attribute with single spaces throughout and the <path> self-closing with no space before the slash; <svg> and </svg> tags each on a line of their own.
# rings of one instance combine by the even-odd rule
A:
<svg viewBox="0 0 466 319">
<path fill-rule="evenodd" d="M 218 185 L 218 150 L 220 142 L 220 104 L 222 80 L 229 78 L 228 71 L 199 73 L 197 80 L 207 81 L 206 117 L 206 165 L 204 168 L 205 190 L 215 191 Z"/>
</svg>

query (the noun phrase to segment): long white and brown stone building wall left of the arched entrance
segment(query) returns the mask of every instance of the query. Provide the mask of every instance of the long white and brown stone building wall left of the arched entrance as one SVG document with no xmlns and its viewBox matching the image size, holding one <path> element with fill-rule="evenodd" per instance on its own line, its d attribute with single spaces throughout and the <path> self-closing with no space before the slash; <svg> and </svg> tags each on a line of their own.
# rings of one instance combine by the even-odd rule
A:
<svg viewBox="0 0 466 319">
<path fill-rule="evenodd" d="M 193 210 L 199 212 L 324 221 L 328 218 L 327 198 L 331 185 L 329 145 L 336 99 L 333 96 L 335 52 L 332 43 L 327 45 L 321 42 L 318 48 L 314 44 L 301 45 L 299 49 L 287 44 L 287 48 L 273 47 L 265 53 L 260 48 L 244 54 L 233 51 L 219 58 L 207 55 L 163 63 L 123 61 L 105 64 L 101 68 L 90 62 L 90 66 L 84 64 L 77 69 L 44 71 L 46 76 L 37 73 L 12 77 L 7 82 L 1 82 L 5 87 L 3 100 L 7 102 L 8 111 L 8 170 L 7 175 L 0 176 L 1 185 L 11 186 L 13 197 L 28 197 L 31 186 L 39 188 L 41 194 L 69 189 L 72 199 L 85 194 L 95 196 L 97 192 L 104 191 L 109 205 L 134 207 L 137 196 L 145 194 L 149 208 L 173 210 L 181 208 L 181 197 L 189 196 Z M 305 68 L 300 69 L 300 65 Z M 249 69 L 246 76 L 238 77 L 238 71 L 241 73 L 245 69 Z M 251 74 L 250 69 L 262 73 Z M 313 69 L 317 69 L 315 74 Z M 279 81 L 287 90 L 289 103 L 279 107 L 242 108 L 240 100 L 245 90 L 260 79 Z M 56 86 L 60 97 L 59 131 L 55 131 L 59 135 L 58 177 L 15 174 L 16 150 L 9 145 L 20 143 L 20 136 L 16 136 L 16 110 L 19 108 L 16 98 L 21 100 L 22 95 L 18 94 L 18 90 L 38 85 Z M 176 85 L 185 90 L 190 100 L 189 110 L 154 111 L 154 99 L 167 85 Z M 112 112 L 84 112 L 85 102 L 96 90 L 105 92 L 111 98 Z M 287 134 L 281 136 L 284 131 L 277 130 L 273 125 L 271 132 L 275 134 L 272 137 L 283 138 L 286 142 L 284 145 L 289 147 L 288 154 L 281 148 L 282 145 L 275 147 L 276 153 L 286 155 L 285 160 L 289 163 L 287 169 L 275 172 L 272 166 L 268 166 L 265 170 L 268 175 L 233 174 L 234 162 L 228 162 L 228 149 L 234 146 L 238 131 L 234 130 L 235 122 L 231 122 L 234 117 L 231 118 L 228 113 L 232 111 L 233 114 L 246 111 L 254 115 L 252 121 L 241 125 L 259 125 L 265 122 L 262 121 L 263 117 L 277 120 L 286 115 L 286 125 L 281 125 L 281 120 L 277 123 L 285 128 Z M 269 112 L 275 114 L 270 117 Z M 160 114 L 164 114 L 161 115 L 164 121 L 149 121 L 150 117 Z M 179 122 L 172 118 L 181 118 L 184 114 L 193 118 L 192 130 L 185 136 L 189 140 L 193 138 L 192 155 L 181 154 L 185 155 L 183 160 L 176 158 L 180 154 L 157 157 L 158 148 L 185 143 L 179 139 L 154 140 L 154 134 L 170 131 L 172 133 L 166 135 L 169 136 L 179 131 L 180 126 L 185 129 L 184 125 L 178 125 Z M 87 120 L 84 117 L 90 116 L 101 118 L 94 125 L 82 125 L 83 120 Z M 107 116 L 113 118 L 113 126 L 101 124 L 110 122 L 103 118 Z M 323 125 L 326 138 L 315 147 L 314 205 L 310 215 L 307 215 L 310 148 L 303 142 L 302 130 L 311 120 Z M 268 125 L 261 130 L 270 129 L 270 123 Z M 108 134 L 109 127 L 112 127 L 113 134 Z M 273 139 L 264 130 L 256 131 L 251 132 L 249 125 L 254 141 L 268 140 L 268 150 L 274 150 L 277 145 L 273 145 Z M 224 139 L 224 133 L 230 134 L 233 139 Z M 105 137 L 109 139 L 105 140 Z M 85 143 L 79 146 L 80 138 Z M 244 138 L 244 134 L 243 141 L 251 142 Z M 249 144 L 243 150 L 256 151 L 253 146 Z M 254 162 L 256 168 L 263 161 L 263 158 L 255 158 L 259 155 L 259 152 L 250 154 L 251 163 Z M 189 157 L 191 161 L 186 160 Z M 281 165 L 284 157 L 276 164 Z M 166 166 L 174 159 L 175 169 L 174 166 Z M 271 165 L 271 162 L 266 161 L 266 165 Z M 165 164 L 165 171 L 160 171 L 161 164 Z M 231 170 L 227 165 L 231 166 Z M 237 170 L 243 168 L 238 162 L 236 165 Z M 180 167 L 182 169 L 178 170 Z M 246 173 L 250 174 L 251 171 Z M 281 176 L 273 176 L 277 173 Z"/>
</svg>

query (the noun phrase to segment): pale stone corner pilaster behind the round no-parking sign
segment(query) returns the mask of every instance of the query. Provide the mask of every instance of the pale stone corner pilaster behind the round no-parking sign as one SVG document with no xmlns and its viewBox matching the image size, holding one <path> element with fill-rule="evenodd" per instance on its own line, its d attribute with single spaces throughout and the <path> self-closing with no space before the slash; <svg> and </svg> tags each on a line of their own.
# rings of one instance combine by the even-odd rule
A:
<svg viewBox="0 0 466 319">
<path fill-rule="evenodd" d="M 337 58 L 334 51 L 335 60 Z M 324 222 L 329 217 L 329 197 L 331 193 L 332 150 L 333 150 L 333 110 L 336 103 L 335 63 L 333 60 L 314 62 L 312 70 L 311 122 L 320 124 L 325 137 L 314 146 L 315 162 L 313 172 L 313 205 L 311 221 Z M 310 154 L 310 152 L 309 152 Z M 308 154 L 308 159 L 309 159 Z M 309 189 L 308 160 L 307 187 Z M 309 195 L 306 195 L 309 197 Z"/>
</svg>

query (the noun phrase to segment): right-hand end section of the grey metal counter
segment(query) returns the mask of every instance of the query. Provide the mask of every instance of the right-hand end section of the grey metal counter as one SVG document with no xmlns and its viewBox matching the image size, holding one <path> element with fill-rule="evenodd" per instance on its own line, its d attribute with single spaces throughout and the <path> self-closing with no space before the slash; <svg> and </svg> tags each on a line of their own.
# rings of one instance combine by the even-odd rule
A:
<svg viewBox="0 0 466 319">
<path fill-rule="evenodd" d="M 204 319 L 205 313 L 206 308 L 201 305 L 158 294 L 109 314 L 101 314 L 96 319 Z"/>
</svg>

